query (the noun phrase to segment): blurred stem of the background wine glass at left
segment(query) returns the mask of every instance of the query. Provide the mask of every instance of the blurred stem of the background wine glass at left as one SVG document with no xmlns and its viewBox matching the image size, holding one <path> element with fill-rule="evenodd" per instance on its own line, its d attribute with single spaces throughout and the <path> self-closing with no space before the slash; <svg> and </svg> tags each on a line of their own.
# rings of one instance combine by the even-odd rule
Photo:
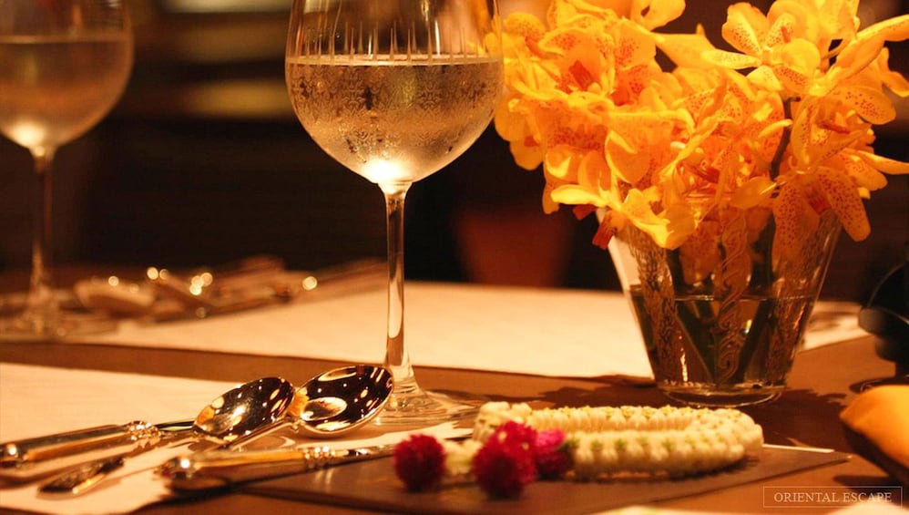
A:
<svg viewBox="0 0 909 515">
<path fill-rule="evenodd" d="M 38 329 L 46 329 L 56 315 L 56 301 L 51 284 L 51 168 L 54 149 L 32 149 L 35 161 L 35 190 L 32 201 L 32 275 L 26 304 L 26 316 Z M 41 327 L 44 326 L 44 327 Z"/>
</svg>

